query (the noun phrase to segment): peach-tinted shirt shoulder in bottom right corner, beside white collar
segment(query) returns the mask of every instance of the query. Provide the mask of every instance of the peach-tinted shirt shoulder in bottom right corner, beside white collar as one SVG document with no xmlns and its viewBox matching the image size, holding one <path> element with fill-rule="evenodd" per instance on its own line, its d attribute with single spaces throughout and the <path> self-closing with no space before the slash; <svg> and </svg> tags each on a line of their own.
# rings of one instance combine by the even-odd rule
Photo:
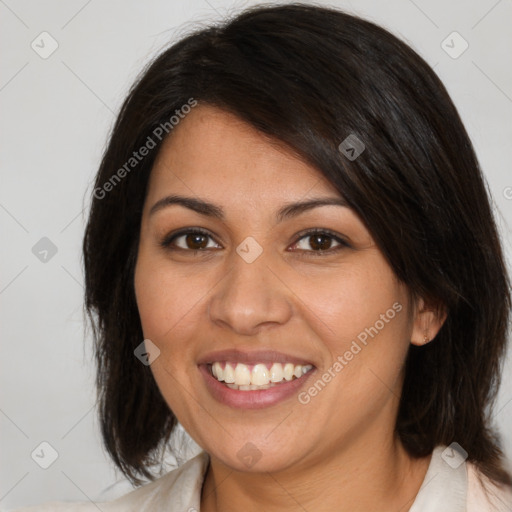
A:
<svg viewBox="0 0 512 512">
<path fill-rule="evenodd" d="M 512 489 L 497 485 L 471 462 L 467 464 L 467 473 L 467 512 L 510 512 L 512 510 Z"/>
</svg>

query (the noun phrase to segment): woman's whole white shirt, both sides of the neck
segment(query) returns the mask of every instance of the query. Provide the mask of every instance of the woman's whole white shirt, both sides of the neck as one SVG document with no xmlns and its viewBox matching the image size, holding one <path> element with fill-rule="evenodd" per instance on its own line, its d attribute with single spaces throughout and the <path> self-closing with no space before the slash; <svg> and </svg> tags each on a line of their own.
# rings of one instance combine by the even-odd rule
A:
<svg viewBox="0 0 512 512">
<path fill-rule="evenodd" d="M 409 512 L 511 512 L 512 491 L 497 487 L 472 463 L 449 465 L 445 446 L 432 453 L 427 473 Z M 448 460 L 448 459 L 446 459 Z M 201 489 L 208 468 L 205 451 L 177 469 L 113 501 L 51 502 L 15 512 L 199 512 Z M 454 466 L 454 467 L 452 467 Z M 484 491 L 482 477 L 490 496 Z"/>
</svg>

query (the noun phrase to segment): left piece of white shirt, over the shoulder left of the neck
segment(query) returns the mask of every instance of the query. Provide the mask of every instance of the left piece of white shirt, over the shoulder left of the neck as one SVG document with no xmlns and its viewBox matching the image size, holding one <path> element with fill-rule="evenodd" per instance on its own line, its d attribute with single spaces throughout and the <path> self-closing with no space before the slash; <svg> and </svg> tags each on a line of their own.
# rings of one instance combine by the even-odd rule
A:
<svg viewBox="0 0 512 512">
<path fill-rule="evenodd" d="M 197 508 L 209 456 L 202 451 L 178 468 L 114 501 L 48 502 L 12 512 L 183 512 Z"/>
</svg>

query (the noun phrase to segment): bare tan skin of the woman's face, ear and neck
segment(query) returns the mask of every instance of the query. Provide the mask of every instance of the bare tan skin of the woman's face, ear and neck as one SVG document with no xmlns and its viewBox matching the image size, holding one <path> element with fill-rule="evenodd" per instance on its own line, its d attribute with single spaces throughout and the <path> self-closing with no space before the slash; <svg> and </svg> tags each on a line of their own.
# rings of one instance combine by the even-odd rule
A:
<svg viewBox="0 0 512 512">
<path fill-rule="evenodd" d="M 180 205 L 150 215 L 170 194 L 215 203 L 225 218 Z M 161 351 L 151 365 L 159 389 L 210 454 L 202 511 L 405 511 L 425 476 L 430 457 L 410 458 L 393 430 L 408 347 L 434 338 L 444 319 L 409 301 L 351 209 L 320 206 L 276 222 L 285 203 L 317 197 L 341 196 L 276 141 L 206 105 L 180 121 L 152 170 L 136 298 L 144 336 Z M 185 236 L 175 250 L 159 245 L 193 227 L 211 233 L 199 240 L 202 252 Z M 350 246 L 334 251 L 339 243 L 327 238 L 315 256 L 314 240 L 297 236 L 309 228 L 330 229 Z M 249 236 L 263 250 L 252 263 L 236 252 Z M 395 303 L 401 311 L 307 404 L 294 395 L 231 408 L 199 372 L 198 359 L 213 350 L 274 349 L 314 364 L 307 391 Z M 237 456 L 248 442 L 261 454 L 250 468 Z"/>
</svg>

